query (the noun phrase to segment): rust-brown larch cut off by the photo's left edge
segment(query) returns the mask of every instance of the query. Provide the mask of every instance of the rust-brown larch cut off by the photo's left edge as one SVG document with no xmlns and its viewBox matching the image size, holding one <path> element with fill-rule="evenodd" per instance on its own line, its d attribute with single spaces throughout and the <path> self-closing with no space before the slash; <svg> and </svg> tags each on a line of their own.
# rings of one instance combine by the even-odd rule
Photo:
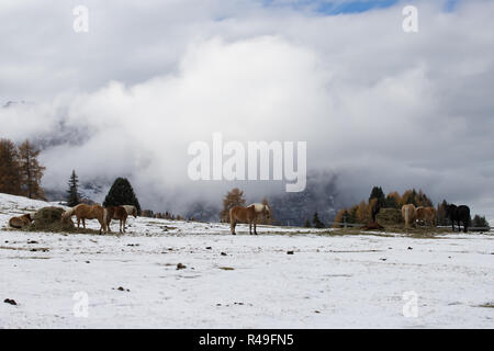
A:
<svg viewBox="0 0 494 351">
<path fill-rule="evenodd" d="M 9 139 L 0 139 L 0 192 L 22 194 L 19 150 Z"/>
</svg>

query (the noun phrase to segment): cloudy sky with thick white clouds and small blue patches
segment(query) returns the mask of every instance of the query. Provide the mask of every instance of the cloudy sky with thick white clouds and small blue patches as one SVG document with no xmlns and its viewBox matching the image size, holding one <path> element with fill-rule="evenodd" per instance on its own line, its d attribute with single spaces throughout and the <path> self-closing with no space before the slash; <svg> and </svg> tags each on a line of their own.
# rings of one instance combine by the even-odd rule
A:
<svg viewBox="0 0 494 351">
<path fill-rule="evenodd" d="M 304 140 L 347 199 L 416 188 L 494 219 L 493 16 L 483 0 L 2 0 L 0 104 L 26 103 L 0 109 L 0 137 L 59 133 L 45 186 L 126 176 L 155 210 L 233 185 L 188 179 L 192 141 Z"/>
</svg>

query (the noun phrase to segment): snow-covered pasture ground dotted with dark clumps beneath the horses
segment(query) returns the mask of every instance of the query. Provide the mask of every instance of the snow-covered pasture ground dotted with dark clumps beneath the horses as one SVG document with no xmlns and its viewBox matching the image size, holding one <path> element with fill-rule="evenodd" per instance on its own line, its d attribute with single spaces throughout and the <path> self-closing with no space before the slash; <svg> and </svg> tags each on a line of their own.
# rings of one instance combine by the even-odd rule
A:
<svg viewBox="0 0 494 351">
<path fill-rule="evenodd" d="M 46 205 L 0 194 L 0 328 L 494 327 L 482 307 L 494 304 L 492 234 L 231 236 L 223 224 L 142 217 L 124 236 L 5 230 Z"/>
</svg>

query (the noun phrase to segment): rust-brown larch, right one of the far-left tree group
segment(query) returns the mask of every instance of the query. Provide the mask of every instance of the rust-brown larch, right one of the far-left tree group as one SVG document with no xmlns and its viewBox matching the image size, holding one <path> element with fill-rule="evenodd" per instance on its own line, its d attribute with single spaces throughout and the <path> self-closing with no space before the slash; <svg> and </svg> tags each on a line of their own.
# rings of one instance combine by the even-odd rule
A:
<svg viewBox="0 0 494 351">
<path fill-rule="evenodd" d="M 44 192 L 41 188 L 41 179 L 46 169 L 37 161 L 40 150 L 25 140 L 19 147 L 19 160 L 21 170 L 22 190 L 24 195 L 30 199 L 44 199 Z"/>
</svg>

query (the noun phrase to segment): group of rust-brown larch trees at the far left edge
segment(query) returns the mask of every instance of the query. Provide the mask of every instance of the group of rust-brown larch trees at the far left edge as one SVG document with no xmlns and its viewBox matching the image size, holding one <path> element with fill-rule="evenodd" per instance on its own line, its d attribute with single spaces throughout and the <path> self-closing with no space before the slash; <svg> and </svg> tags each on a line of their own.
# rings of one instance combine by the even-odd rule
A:
<svg viewBox="0 0 494 351">
<path fill-rule="evenodd" d="M 0 193 L 44 200 L 41 180 L 45 167 L 40 165 L 38 155 L 27 139 L 21 145 L 0 139 Z"/>
</svg>

